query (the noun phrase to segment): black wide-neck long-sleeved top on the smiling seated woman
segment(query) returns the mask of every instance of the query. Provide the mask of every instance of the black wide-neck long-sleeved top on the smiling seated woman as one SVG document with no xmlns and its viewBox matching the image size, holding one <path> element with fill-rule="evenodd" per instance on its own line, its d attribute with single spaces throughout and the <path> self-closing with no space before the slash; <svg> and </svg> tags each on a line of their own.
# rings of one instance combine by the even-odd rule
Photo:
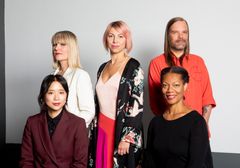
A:
<svg viewBox="0 0 240 168">
<path fill-rule="evenodd" d="M 175 120 L 154 117 L 148 128 L 144 167 L 213 167 L 205 119 L 196 111 Z"/>
</svg>

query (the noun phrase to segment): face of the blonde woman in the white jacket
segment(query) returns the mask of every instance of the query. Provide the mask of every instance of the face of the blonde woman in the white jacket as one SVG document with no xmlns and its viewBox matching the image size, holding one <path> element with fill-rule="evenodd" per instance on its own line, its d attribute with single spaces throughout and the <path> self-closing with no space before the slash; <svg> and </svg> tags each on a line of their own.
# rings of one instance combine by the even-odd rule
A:
<svg viewBox="0 0 240 168">
<path fill-rule="evenodd" d="M 64 41 L 58 41 L 52 45 L 53 56 L 56 61 L 67 61 L 69 46 Z"/>
</svg>

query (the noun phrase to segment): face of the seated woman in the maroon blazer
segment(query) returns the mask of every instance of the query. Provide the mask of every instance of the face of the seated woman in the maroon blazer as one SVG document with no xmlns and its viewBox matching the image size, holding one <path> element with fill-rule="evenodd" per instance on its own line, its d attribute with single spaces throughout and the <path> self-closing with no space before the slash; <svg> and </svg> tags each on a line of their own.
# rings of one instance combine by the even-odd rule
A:
<svg viewBox="0 0 240 168">
<path fill-rule="evenodd" d="M 44 100 L 47 104 L 48 112 L 58 114 L 62 111 L 67 101 L 67 93 L 59 82 L 54 81 L 48 88 Z"/>
</svg>

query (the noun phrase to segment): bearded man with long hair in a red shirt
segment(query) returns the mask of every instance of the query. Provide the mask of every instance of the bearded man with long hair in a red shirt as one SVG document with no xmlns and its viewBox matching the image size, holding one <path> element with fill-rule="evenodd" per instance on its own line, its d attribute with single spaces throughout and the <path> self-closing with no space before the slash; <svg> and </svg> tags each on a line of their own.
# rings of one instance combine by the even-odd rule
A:
<svg viewBox="0 0 240 168">
<path fill-rule="evenodd" d="M 149 65 L 150 107 L 155 115 L 163 114 L 166 105 L 160 90 L 160 72 L 165 67 L 181 66 L 190 75 L 184 101 L 189 107 L 197 110 L 208 123 L 211 110 L 216 106 L 208 70 L 204 60 L 197 55 L 190 54 L 189 51 L 187 21 L 181 17 L 172 18 L 166 26 L 164 53 L 154 58 Z"/>
</svg>

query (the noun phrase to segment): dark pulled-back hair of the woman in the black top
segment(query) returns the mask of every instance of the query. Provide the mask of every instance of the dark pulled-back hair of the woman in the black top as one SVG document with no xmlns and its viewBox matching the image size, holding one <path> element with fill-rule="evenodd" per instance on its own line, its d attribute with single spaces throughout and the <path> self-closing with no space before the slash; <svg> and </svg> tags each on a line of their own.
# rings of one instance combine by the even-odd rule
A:
<svg viewBox="0 0 240 168">
<path fill-rule="evenodd" d="M 175 73 L 175 74 L 181 75 L 181 78 L 184 84 L 189 82 L 189 75 L 186 69 L 180 66 L 171 66 L 171 67 L 164 68 L 161 71 L 161 75 L 160 75 L 161 83 L 163 82 L 164 76 L 168 73 Z"/>
</svg>

